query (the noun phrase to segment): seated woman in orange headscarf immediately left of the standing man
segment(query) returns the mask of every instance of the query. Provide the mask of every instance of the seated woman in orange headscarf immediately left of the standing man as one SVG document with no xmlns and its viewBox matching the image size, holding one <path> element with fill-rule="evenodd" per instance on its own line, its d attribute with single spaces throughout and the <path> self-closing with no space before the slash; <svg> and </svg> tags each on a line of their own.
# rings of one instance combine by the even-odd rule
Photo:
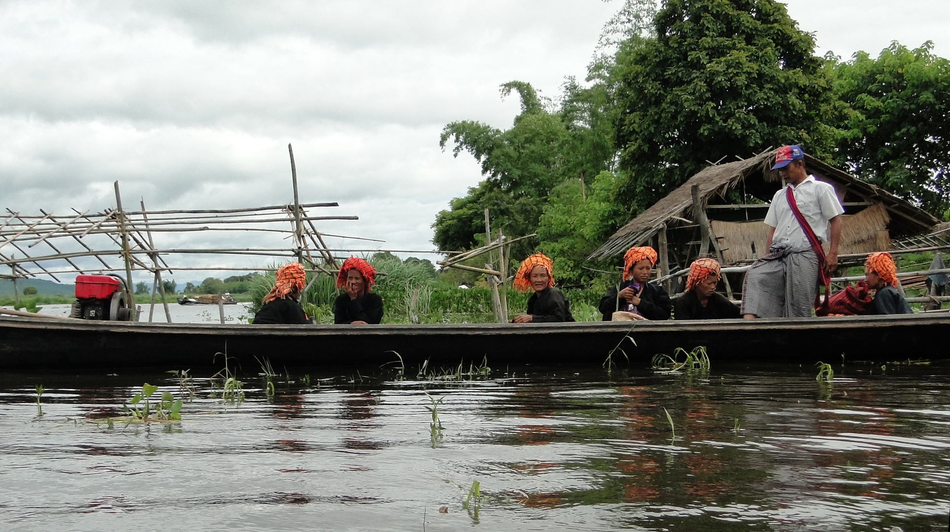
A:
<svg viewBox="0 0 950 532">
<path fill-rule="evenodd" d="M 715 291 L 720 278 L 719 262 L 696 259 L 686 278 L 686 292 L 674 303 L 675 320 L 738 320 L 739 307 Z"/>
</svg>

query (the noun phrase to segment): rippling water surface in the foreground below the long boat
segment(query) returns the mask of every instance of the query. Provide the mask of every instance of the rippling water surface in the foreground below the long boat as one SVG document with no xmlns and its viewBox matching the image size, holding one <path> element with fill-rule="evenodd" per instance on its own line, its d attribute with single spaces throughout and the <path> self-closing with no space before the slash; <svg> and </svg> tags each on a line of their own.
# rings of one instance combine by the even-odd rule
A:
<svg viewBox="0 0 950 532">
<path fill-rule="evenodd" d="M 168 375 L 0 376 L 4 530 L 945 530 L 948 366 L 507 368 L 446 386 L 291 369 L 112 429 Z M 304 386 L 304 373 L 311 385 Z M 240 375 L 239 375 L 240 376 Z M 357 376 L 353 378 L 353 376 Z M 207 377 L 207 376 L 204 376 Z M 322 380 L 320 380 L 322 379 Z M 33 387 L 42 383 L 42 417 Z M 443 398 L 432 447 L 427 394 Z M 664 409 L 666 409 L 664 411 Z M 671 428 L 666 412 L 673 420 Z M 472 481 L 481 505 L 463 508 Z M 447 506 L 447 513 L 439 511 Z"/>
</svg>

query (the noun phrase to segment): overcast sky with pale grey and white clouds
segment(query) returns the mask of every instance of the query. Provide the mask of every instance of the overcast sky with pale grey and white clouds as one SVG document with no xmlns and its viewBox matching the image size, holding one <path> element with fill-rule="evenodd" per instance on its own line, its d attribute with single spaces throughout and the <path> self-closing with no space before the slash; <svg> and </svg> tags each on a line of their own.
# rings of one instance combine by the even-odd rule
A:
<svg viewBox="0 0 950 532">
<path fill-rule="evenodd" d="M 619 7 L 0 2 L 0 208 L 99 211 L 115 203 L 116 179 L 149 209 L 287 203 L 293 142 L 301 201 L 360 216 L 323 229 L 431 249 L 435 213 L 481 179 L 472 157 L 439 148 L 442 127 L 509 126 L 518 101 L 499 98 L 501 83 L 556 96 L 566 76 L 582 79 Z M 932 40 L 950 54 L 945 0 L 791 0 L 788 10 L 819 53 Z"/>
</svg>

